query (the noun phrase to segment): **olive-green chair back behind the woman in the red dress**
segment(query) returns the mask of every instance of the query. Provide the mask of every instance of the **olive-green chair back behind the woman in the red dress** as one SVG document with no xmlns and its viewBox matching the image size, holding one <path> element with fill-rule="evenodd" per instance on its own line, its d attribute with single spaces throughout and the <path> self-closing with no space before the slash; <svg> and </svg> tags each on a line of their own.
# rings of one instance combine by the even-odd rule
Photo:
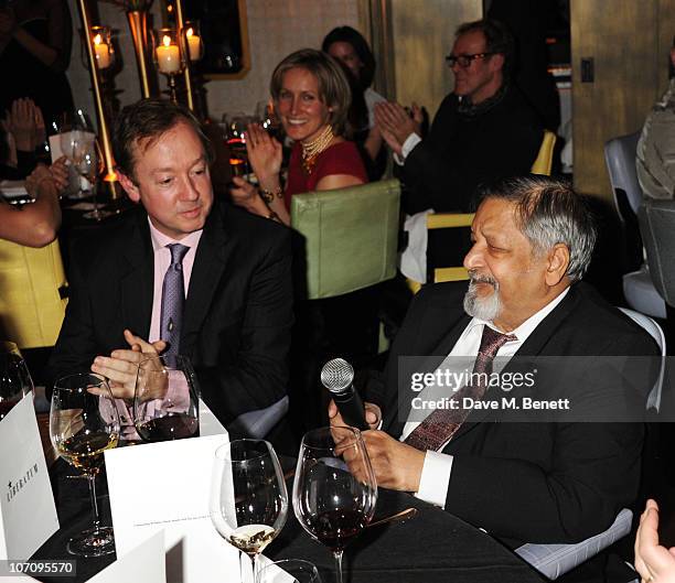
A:
<svg viewBox="0 0 675 583">
<path fill-rule="evenodd" d="M 291 226 L 306 239 L 308 298 L 333 298 L 396 274 L 400 184 L 296 194 Z"/>
</svg>

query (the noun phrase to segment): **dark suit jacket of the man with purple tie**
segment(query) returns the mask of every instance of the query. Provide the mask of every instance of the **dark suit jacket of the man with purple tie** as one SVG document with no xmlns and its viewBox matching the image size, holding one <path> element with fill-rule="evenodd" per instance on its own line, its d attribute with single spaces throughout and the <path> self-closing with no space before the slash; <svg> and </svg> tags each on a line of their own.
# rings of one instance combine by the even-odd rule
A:
<svg viewBox="0 0 675 583">
<path fill-rule="evenodd" d="M 86 371 L 96 355 L 127 347 L 122 331 L 148 338 L 153 253 L 148 218 L 96 229 L 73 253 L 69 301 L 50 360 L 52 379 Z M 292 325 L 290 231 L 214 204 L 197 247 L 180 353 L 194 365 L 202 397 L 228 423 L 287 391 Z"/>
</svg>

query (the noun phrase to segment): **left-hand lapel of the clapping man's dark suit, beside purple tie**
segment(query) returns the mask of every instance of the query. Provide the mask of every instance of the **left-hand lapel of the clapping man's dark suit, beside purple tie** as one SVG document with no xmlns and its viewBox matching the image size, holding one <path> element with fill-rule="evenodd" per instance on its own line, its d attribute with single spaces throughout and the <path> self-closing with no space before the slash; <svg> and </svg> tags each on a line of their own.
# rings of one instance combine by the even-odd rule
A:
<svg viewBox="0 0 675 583">
<path fill-rule="evenodd" d="M 147 215 L 138 212 L 120 256 L 122 322 L 133 334 L 148 338 L 152 315 L 154 258 Z"/>
</svg>

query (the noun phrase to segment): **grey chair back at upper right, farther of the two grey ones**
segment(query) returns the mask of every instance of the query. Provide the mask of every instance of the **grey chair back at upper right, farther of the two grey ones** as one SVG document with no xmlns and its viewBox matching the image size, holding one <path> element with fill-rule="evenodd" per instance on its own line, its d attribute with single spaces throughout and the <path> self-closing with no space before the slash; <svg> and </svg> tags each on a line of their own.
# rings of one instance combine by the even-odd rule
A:
<svg viewBox="0 0 675 583">
<path fill-rule="evenodd" d="M 604 162 L 609 172 L 619 216 L 625 223 L 626 214 L 638 214 L 642 204 L 642 188 L 638 182 L 635 155 L 640 132 L 613 138 L 604 144 Z"/>
</svg>

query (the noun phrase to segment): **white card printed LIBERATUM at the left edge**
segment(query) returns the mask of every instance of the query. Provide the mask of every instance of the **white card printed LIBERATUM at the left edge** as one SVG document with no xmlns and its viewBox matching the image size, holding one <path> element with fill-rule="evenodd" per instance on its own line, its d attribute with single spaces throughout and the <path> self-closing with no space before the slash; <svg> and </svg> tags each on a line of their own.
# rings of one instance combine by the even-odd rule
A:
<svg viewBox="0 0 675 583">
<path fill-rule="evenodd" d="M 0 559 L 26 560 L 57 530 L 30 393 L 0 421 Z"/>
</svg>

